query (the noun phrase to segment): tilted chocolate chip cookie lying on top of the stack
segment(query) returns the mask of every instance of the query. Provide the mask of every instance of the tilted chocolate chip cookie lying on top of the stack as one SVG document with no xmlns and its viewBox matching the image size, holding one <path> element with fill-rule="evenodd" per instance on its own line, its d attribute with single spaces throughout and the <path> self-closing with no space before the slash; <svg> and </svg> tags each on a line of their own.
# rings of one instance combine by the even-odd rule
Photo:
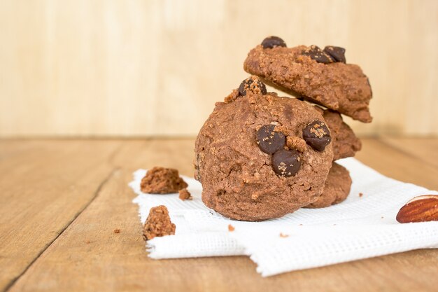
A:
<svg viewBox="0 0 438 292">
<path fill-rule="evenodd" d="M 358 65 L 346 64 L 344 48 L 297 46 L 270 36 L 250 50 L 243 64 L 245 71 L 267 84 L 299 95 L 309 102 L 370 123 L 369 100 L 372 90 Z"/>
</svg>

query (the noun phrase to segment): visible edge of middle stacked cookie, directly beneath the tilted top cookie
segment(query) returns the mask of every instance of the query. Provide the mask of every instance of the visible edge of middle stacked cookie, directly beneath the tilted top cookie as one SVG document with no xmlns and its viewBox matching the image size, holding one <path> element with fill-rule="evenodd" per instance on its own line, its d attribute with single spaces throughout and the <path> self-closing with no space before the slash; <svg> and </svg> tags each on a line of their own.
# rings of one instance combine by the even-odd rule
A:
<svg viewBox="0 0 438 292">
<path fill-rule="evenodd" d="M 332 135 L 333 160 L 353 157 L 362 148 L 360 139 L 356 137 L 351 127 L 344 123 L 339 113 L 330 109 L 320 109 L 320 111 Z"/>
</svg>

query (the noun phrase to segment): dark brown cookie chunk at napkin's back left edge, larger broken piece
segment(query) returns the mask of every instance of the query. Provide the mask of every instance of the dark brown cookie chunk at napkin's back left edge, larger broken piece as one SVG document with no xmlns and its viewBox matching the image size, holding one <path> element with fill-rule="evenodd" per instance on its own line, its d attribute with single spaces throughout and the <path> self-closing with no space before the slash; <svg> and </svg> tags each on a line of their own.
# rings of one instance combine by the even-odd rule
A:
<svg viewBox="0 0 438 292">
<path fill-rule="evenodd" d="M 150 194 L 178 193 L 178 190 L 187 188 L 188 184 L 181 179 L 178 170 L 164 167 L 149 169 L 141 179 L 141 191 Z"/>
</svg>

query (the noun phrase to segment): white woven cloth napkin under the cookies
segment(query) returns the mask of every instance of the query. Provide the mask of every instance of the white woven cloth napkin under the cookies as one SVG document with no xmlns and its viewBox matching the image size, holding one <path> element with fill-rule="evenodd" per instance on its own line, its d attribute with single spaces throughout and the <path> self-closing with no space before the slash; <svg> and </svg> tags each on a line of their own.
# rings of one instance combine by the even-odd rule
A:
<svg viewBox="0 0 438 292">
<path fill-rule="evenodd" d="M 353 179 L 347 200 L 323 209 L 299 209 L 263 222 L 230 220 L 205 207 L 201 184 L 185 176 L 193 200 L 182 201 L 178 194 L 141 193 L 140 181 L 146 170 L 137 170 L 129 186 L 138 194 L 134 202 L 139 204 L 141 222 L 146 221 L 151 207 L 164 204 L 176 225 L 175 235 L 147 242 L 149 256 L 247 255 L 257 263 L 257 272 L 266 277 L 412 249 L 438 248 L 438 221 L 395 221 L 397 211 L 412 197 L 438 192 L 390 179 L 354 158 L 337 162 Z M 235 228 L 233 232 L 228 230 L 229 224 Z"/>
</svg>

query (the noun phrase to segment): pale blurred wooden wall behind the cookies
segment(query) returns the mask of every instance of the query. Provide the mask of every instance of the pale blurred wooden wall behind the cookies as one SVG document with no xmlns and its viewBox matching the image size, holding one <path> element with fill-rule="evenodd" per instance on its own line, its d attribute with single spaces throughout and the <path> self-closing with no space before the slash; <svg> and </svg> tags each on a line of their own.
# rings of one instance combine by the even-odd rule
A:
<svg viewBox="0 0 438 292">
<path fill-rule="evenodd" d="M 347 48 L 359 134 L 438 134 L 435 0 L 0 1 L 0 137 L 193 136 L 265 36 Z"/>
</svg>

